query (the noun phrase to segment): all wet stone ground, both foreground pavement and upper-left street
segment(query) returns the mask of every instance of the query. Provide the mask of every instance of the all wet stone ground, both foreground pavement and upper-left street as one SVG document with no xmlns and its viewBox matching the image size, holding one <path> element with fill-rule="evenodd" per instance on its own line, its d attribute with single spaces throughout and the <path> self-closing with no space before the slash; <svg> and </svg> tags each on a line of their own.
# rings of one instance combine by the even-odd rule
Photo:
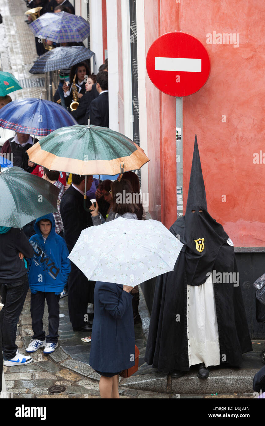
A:
<svg viewBox="0 0 265 426">
<path fill-rule="evenodd" d="M 0 24 L 0 63 L 3 71 L 11 72 L 23 90 L 11 93 L 11 98 L 39 97 L 44 86 L 44 74 L 33 75 L 29 69 L 36 58 L 35 40 L 24 13 L 23 0 L 0 0 L 3 23 Z M 90 308 L 91 310 L 91 308 Z M 14 398 L 99 398 L 99 375 L 88 365 L 90 343 L 82 342 L 85 333 L 74 332 L 68 317 L 68 297 L 60 300 L 59 347 L 49 356 L 41 349 L 32 354 L 33 362 L 26 366 L 4 367 L 6 385 Z M 207 380 L 197 378 L 191 368 L 185 376 L 171 379 L 144 362 L 145 344 L 150 315 L 141 294 L 142 326 L 135 326 L 135 339 L 140 349 L 139 370 L 134 376 L 120 380 L 122 398 L 252 398 L 252 380 L 263 366 L 260 352 L 264 342 L 253 340 L 254 351 L 244 355 L 241 368 L 212 368 Z M 47 306 L 44 326 L 47 330 Z M 26 354 L 32 336 L 30 293 L 26 298 L 17 329 L 17 345 Z M 51 386 L 64 386 L 61 392 L 51 393 Z M 60 389 L 59 389 L 60 390 Z"/>
</svg>

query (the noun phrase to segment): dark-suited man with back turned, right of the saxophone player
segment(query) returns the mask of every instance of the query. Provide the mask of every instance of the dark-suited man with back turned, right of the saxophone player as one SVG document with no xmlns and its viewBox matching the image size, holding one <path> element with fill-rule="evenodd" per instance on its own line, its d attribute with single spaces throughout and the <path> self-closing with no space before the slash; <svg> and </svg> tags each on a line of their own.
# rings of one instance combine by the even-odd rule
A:
<svg viewBox="0 0 265 426">
<path fill-rule="evenodd" d="M 97 91 L 99 96 L 90 104 L 90 124 L 108 127 L 108 72 L 97 74 Z"/>
</svg>

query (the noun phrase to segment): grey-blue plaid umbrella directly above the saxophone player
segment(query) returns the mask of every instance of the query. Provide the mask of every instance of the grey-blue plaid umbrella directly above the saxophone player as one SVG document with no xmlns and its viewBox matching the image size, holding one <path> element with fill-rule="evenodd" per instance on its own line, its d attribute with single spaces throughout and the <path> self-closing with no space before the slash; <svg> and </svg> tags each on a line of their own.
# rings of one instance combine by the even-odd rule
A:
<svg viewBox="0 0 265 426">
<path fill-rule="evenodd" d="M 83 46 L 56 47 L 41 55 L 29 72 L 38 74 L 60 68 L 70 68 L 75 63 L 89 59 L 93 55 L 94 52 Z"/>
</svg>

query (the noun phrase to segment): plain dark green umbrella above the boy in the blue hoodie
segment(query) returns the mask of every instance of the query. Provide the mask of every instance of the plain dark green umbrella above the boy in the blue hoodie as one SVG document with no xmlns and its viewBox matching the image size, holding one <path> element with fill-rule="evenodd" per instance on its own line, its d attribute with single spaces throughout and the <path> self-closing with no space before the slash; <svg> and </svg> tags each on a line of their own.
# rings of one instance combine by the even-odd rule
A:
<svg viewBox="0 0 265 426">
<path fill-rule="evenodd" d="M 0 168 L 0 226 L 22 228 L 57 211 L 60 190 L 20 167 Z"/>
</svg>

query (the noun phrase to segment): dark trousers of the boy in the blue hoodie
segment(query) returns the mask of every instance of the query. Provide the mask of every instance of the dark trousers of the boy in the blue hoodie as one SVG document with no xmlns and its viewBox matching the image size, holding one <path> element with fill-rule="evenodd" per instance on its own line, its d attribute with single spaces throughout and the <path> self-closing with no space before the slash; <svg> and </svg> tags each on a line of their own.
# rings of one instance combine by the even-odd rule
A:
<svg viewBox="0 0 265 426">
<path fill-rule="evenodd" d="M 45 331 L 43 330 L 43 313 L 45 299 L 48 305 L 48 321 L 49 321 L 49 334 L 45 337 Z M 31 293 L 30 299 L 30 313 L 32 320 L 33 339 L 44 341 L 46 338 L 47 343 L 58 342 L 58 328 L 60 321 L 60 306 L 59 306 L 60 294 L 56 294 L 51 291 L 44 293 L 43 291 L 37 291 L 36 294 Z"/>
</svg>

